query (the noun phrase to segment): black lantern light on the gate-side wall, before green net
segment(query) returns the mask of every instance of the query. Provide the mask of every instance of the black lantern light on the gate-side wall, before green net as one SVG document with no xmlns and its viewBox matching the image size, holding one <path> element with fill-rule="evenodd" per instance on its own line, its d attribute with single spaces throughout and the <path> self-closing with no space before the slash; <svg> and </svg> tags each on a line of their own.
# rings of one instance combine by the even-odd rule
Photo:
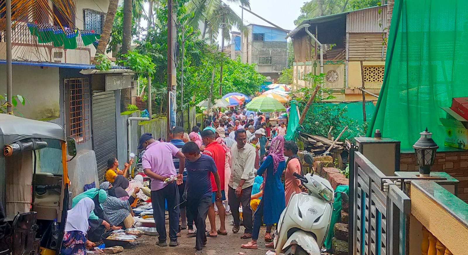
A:
<svg viewBox="0 0 468 255">
<path fill-rule="evenodd" d="M 432 133 L 427 131 L 427 128 L 419 134 L 421 137 L 419 137 L 417 142 L 413 145 L 417 165 L 419 165 L 419 176 L 429 177 L 431 165 L 434 164 L 436 150 L 439 148 L 439 145 L 432 140 Z"/>
</svg>

